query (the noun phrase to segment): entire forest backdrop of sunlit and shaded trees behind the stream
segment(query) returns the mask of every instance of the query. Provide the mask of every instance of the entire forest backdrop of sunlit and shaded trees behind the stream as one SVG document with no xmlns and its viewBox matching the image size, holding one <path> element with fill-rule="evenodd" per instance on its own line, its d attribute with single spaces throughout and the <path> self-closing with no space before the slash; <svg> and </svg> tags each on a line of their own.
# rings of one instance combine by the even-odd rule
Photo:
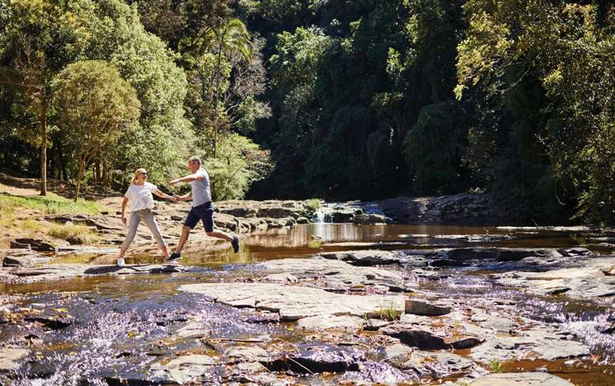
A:
<svg viewBox="0 0 615 386">
<path fill-rule="evenodd" d="M 1 0 L 0 168 L 125 188 L 203 157 L 214 199 L 488 192 L 615 212 L 615 6 Z"/>
</svg>

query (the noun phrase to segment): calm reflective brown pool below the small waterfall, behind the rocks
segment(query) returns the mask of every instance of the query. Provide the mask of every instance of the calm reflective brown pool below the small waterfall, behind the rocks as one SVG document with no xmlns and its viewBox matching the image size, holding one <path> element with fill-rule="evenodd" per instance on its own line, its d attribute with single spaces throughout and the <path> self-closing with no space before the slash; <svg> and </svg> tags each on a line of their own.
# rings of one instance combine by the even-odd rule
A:
<svg viewBox="0 0 615 386">
<path fill-rule="evenodd" d="M 472 237 L 468 237 L 472 236 Z M 598 254 L 614 246 L 592 244 L 595 237 L 579 231 L 528 231 L 485 226 L 443 224 L 299 224 L 292 228 L 268 229 L 242 236 L 241 249 L 233 254 L 224 241 L 189 241 L 180 264 L 216 266 L 250 264 L 270 259 L 305 257 L 322 251 L 348 249 L 421 249 L 461 246 L 499 246 L 518 248 L 561 248 L 587 246 Z M 158 254 L 129 254 L 128 264 L 162 263 Z M 110 264 L 110 256 L 79 254 L 58 256 L 53 263 Z"/>
</svg>

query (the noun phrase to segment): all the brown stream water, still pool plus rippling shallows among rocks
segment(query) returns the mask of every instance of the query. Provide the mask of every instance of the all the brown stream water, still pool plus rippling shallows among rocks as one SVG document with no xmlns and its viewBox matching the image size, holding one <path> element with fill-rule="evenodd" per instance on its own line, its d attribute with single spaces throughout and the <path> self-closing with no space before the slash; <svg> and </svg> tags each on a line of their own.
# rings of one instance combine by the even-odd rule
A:
<svg viewBox="0 0 615 386">
<path fill-rule="evenodd" d="M 468 241 L 458 235 L 505 235 L 501 241 Z M 227 342 L 268 335 L 282 345 L 297 349 L 305 345 L 305 333 L 293 323 L 261 324 L 251 322 L 249 310 L 238 310 L 213 303 L 206 298 L 179 293 L 185 283 L 243 280 L 254 276 L 251 264 L 270 259 L 304 257 L 322 251 L 347 249 L 425 249 L 452 246 L 515 246 L 574 247 L 588 246 L 600 253 L 610 253 L 610 239 L 577 231 L 507 231 L 483 226 L 445 225 L 376 225 L 308 224 L 293 229 L 278 229 L 243 237 L 239 254 L 228 251 L 228 245 L 202 253 L 184 254 L 180 264 L 200 266 L 198 273 L 159 274 L 147 276 L 97 276 L 65 281 L 26 285 L 0 285 L 0 293 L 22 295 L 22 308 L 38 309 L 52 315 L 68 313 L 78 322 L 68 328 L 46 330 L 23 329 L 0 324 L 0 345 L 23 347 L 33 352 L 32 360 L 19 370 L 16 385 L 82 384 L 104 385 L 105 379 L 118 376 L 128 379 L 146 377 L 144 364 L 157 360 L 159 353 L 171 355 L 189 351 L 211 350 L 202 340 L 169 339 L 182 320 L 204 320 L 214 331 L 209 340 Z M 97 262 L 97 256 L 58 256 L 54 262 Z M 127 263 L 150 263 L 159 257 L 130 256 Z M 615 320 L 611 299 L 570 301 L 564 296 L 542 298 L 515 288 L 495 286 L 487 274 L 472 266 L 447 268 L 449 275 L 441 280 L 421 281 L 421 289 L 448 297 L 507 298 L 517 303 L 522 315 L 547 323 L 559 323 L 579 333 L 592 350 L 590 358 L 567 361 L 522 361 L 503 363 L 504 371 L 535 370 L 547 367 L 549 372 L 571 380 L 576 385 L 615 385 L 615 339 L 601 333 Z M 54 311 L 54 309 L 56 311 Z M 57 311 L 58 309 L 65 311 Z M 29 337 L 34 335 L 34 337 Z M 364 345 L 372 342 L 364 337 Z M 29 342 L 29 343 L 28 343 Z M 302 343 L 303 342 L 303 343 Z M 322 345 L 330 342 L 323 338 Z M 349 348 L 349 355 L 359 355 Z M 360 350 L 359 350 L 360 351 Z M 464 354 L 459 351 L 459 354 Z M 467 353 L 465 353 L 467 355 Z M 391 367 L 379 365 L 377 358 L 368 358 L 365 370 L 352 379 L 365 382 L 387 382 Z M 210 376 L 220 378 L 224 368 L 214 368 Z M 216 378 L 217 377 L 217 378 Z M 280 375 L 286 377 L 286 375 Z M 291 377 L 304 383 L 335 384 L 347 375 L 315 375 Z M 438 380 L 421 383 L 437 384 Z"/>
</svg>

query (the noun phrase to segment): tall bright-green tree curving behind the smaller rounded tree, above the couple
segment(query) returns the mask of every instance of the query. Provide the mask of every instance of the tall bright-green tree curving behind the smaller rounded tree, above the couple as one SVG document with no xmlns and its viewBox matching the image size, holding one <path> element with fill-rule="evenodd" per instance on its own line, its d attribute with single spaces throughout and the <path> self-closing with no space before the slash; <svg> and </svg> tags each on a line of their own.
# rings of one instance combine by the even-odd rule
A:
<svg viewBox="0 0 615 386">
<path fill-rule="evenodd" d="M 186 74 L 164 41 L 145 31 L 137 6 L 121 0 L 70 2 L 79 60 L 105 60 L 137 91 L 140 130 L 125 132 L 117 147 L 100 157 L 104 169 L 125 171 L 147 165 L 149 178 L 166 181 L 194 148 L 191 125 L 184 118 Z M 122 174 L 120 178 L 122 178 Z"/>
</svg>

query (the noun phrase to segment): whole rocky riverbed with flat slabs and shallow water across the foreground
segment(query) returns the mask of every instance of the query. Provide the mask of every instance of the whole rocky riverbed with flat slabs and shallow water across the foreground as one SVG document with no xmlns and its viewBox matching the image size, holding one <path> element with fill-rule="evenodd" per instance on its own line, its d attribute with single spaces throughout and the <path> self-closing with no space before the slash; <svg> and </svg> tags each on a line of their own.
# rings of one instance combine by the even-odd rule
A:
<svg viewBox="0 0 615 386">
<path fill-rule="evenodd" d="M 211 263 L 226 249 L 124 268 L 14 251 L 1 269 L 0 382 L 615 381 L 615 256 L 579 246 L 576 231 L 285 229 L 246 236 L 237 263 Z"/>
</svg>

